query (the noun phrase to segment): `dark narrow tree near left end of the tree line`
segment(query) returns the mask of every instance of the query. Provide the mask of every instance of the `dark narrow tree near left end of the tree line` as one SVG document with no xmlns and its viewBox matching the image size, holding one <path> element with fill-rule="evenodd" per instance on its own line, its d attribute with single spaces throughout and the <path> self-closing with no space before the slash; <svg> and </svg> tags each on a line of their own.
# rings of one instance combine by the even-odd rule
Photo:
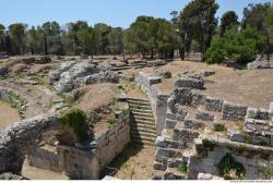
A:
<svg viewBox="0 0 273 183">
<path fill-rule="evenodd" d="M 9 26 L 9 34 L 13 42 L 14 53 L 22 54 L 25 49 L 26 24 L 16 23 Z"/>
</svg>

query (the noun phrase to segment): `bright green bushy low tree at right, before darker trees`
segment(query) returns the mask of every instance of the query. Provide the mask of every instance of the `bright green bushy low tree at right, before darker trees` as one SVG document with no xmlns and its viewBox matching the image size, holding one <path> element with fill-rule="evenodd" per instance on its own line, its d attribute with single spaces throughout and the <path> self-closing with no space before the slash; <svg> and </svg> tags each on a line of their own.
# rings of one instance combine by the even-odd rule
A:
<svg viewBox="0 0 273 183">
<path fill-rule="evenodd" d="M 207 63 L 219 63 L 234 60 L 248 63 L 256 59 L 257 53 L 264 47 L 264 38 L 252 28 L 241 32 L 228 30 L 223 37 L 215 37 L 205 53 Z"/>
</svg>

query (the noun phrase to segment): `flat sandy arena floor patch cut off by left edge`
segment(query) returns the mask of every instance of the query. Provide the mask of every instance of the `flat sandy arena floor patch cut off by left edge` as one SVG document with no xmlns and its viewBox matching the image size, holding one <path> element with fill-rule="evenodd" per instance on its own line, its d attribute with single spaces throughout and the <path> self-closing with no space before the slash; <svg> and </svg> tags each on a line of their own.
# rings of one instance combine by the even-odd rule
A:
<svg viewBox="0 0 273 183">
<path fill-rule="evenodd" d="M 19 112 L 10 103 L 0 100 L 0 129 L 5 129 L 10 124 L 20 121 Z"/>
</svg>

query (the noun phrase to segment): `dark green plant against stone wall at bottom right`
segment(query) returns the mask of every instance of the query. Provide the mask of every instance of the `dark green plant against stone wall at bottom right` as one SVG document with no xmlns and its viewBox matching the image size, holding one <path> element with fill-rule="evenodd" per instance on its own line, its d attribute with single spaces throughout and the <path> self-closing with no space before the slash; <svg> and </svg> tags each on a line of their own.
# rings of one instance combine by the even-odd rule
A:
<svg viewBox="0 0 273 183">
<path fill-rule="evenodd" d="M 219 175 L 225 179 L 241 179 L 244 178 L 246 170 L 244 166 L 236 161 L 230 154 L 226 154 L 219 161 L 218 166 Z M 235 174 L 232 172 L 235 171 Z"/>
</svg>

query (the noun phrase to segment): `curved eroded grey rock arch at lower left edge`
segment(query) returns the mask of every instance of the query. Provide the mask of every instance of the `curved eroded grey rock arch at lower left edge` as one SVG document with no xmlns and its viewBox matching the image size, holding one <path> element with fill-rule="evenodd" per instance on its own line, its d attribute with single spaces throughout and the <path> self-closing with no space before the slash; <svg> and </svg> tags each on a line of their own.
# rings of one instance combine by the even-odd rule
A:
<svg viewBox="0 0 273 183">
<path fill-rule="evenodd" d="M 44 132 L 59 125 L 58 115 L 38 115 L 0 131 L 0 172 L 20 174 L 29 145 Z"/>
</svg>

